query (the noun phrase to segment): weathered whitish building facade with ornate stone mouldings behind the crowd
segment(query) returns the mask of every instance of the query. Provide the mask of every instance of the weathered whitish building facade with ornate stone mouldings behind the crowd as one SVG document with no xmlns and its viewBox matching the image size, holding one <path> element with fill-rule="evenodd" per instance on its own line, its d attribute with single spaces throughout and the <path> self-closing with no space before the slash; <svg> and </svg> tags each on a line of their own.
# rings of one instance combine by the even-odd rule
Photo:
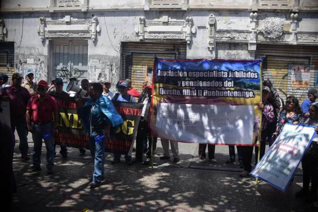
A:
<svg viewBox="0 0 318 212">
<path fill-rule="evenodd" d="M 316 0 L 3 0 L 0 72 L 151 81 L 154 57 L 264 58 L 280 95 L 316 87 Z M 318 83 L 318 82 L 317 82 Z"/>
</svg>

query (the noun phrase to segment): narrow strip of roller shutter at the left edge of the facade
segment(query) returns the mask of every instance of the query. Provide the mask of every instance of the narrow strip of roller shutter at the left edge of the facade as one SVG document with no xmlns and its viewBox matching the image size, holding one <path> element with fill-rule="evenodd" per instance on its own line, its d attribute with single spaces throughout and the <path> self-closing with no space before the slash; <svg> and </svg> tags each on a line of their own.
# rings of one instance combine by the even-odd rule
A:
<svg viewBox="0 0 318 212">
<path fill-rule="evenodd" d="M 14 42 L 0 43 L 0 72 L 5 73 L 11 82 L 14 69 Z"/>
</svg>

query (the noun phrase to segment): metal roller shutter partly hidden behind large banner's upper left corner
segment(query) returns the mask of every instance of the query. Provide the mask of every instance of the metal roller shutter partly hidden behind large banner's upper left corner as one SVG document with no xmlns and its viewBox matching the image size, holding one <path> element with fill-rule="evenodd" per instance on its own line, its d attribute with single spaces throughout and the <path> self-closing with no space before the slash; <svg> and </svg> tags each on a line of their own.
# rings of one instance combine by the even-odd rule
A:
<svg viewBox="0 0 318 212">
<path fill-rule="evenodd" d="M 186 43 L 140 43 L 122 45 L 122 76 L 131 79 L 131 85 L 142 91 L 144 81 L 152 81 L 154 58 L 177 59 L 187 57 Z"/>
</svg>

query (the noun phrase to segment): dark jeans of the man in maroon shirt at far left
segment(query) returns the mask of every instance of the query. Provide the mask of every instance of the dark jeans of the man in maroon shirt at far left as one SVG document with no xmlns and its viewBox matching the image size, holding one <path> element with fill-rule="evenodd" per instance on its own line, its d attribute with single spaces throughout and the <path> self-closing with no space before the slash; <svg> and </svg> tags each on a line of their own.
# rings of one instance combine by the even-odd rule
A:
<svg viewBox="0 0 318 212">
<path fill-rule="evenodd" d="M 17 129 L 18 136 L 19 136 L 19 150 L 21 154 L 27 154 L 28 153 L 28 130 L 26 127 L 26 121 L 25 121 L 25 116 L 19 116 L 19 117 L 14 117 L 11 119 L 11 129 L 14 134 L 14 131 Z"/>
</svg>

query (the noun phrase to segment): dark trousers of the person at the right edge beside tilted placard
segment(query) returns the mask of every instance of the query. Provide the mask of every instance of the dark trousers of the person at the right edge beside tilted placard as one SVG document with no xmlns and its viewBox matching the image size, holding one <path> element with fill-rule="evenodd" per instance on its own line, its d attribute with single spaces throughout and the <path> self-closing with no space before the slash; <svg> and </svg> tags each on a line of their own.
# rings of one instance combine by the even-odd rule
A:
<svg viewBox="0 0 318 212">
<path fill-rule="evenodd" d="M 310 154 L 305 154 L 302 161 L 302 180 L 303 180 L 303 189 L 306 191 L 309 191 L 309 183 L 311 180 L 311 195 L 316 195 L 317 193 L 317 187 L 318 187 L 318 160 L 317 158 L 314 158 Z"/>
</svg>

